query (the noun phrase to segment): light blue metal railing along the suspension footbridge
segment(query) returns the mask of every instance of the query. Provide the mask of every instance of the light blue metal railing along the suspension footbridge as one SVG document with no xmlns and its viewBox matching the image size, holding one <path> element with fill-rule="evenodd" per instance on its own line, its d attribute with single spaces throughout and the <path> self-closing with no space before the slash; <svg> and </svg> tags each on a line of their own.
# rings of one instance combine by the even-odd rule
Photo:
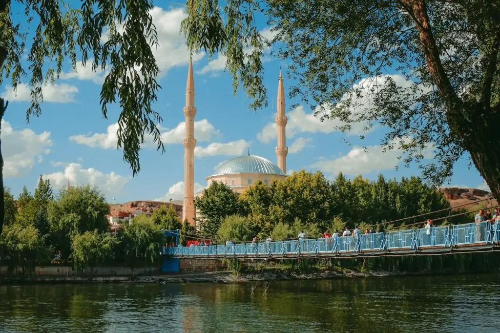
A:
<svg viewBox="0 0 500 333">
<path fill-rule="evenodd" d="M 432 228 L 375 232 L 357 236 L 292 239 L 225 245 L 191 245 L 163 248 L 176 257 L 297 257 L 376 256 L 391 253 L 439 252 L 493 247 L 500 243 L 500 224 L 484 221 Z"/>
</svg>

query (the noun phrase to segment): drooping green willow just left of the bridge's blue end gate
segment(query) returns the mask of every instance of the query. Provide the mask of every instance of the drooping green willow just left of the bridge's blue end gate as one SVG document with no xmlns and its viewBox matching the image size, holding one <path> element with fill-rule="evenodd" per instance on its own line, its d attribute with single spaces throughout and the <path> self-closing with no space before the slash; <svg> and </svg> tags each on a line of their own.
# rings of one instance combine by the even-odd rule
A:
<svg viewBox="0 0 500 333">
<path fill-rule="evenodd" d="M 118 239 L 125 260 L 132 269 L 132 275 L 139 263 L 155 262 L 165 242 L 159 226 L 151 220 L 144 219 L 134 219 L 130 225 L 126 225 L 118 233 Z"/>
</svg>

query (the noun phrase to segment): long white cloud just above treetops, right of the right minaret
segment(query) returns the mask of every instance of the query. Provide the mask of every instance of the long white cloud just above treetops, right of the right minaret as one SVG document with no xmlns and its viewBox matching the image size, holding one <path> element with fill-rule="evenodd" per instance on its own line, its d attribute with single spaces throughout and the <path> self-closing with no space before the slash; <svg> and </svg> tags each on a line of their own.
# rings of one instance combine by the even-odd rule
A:
<svg viewBox="0 0 500 333">
<path fill-rule="evenodd" d="M 407 140 L 400 141 L 408 143 Z M 310 167 L 331 174 L 338 172 L 349 175 L 365 174 L 393 169 L 400 162 L 398 157 L 404 153 L 397 142 L 394 142 L 392 150 L 386 150 L 385 152 L 381 145 L 371 145 L 366 147 L 366 150 L 364 151 L 363 147 L 354 146 L 346 155 L 335 159 L 321 159 L 311 164 Z M 425 159 L 432 158 L 434 156 L 433 147 L 428 146 L 422 151 L 422 154 Z"/>
</svg>

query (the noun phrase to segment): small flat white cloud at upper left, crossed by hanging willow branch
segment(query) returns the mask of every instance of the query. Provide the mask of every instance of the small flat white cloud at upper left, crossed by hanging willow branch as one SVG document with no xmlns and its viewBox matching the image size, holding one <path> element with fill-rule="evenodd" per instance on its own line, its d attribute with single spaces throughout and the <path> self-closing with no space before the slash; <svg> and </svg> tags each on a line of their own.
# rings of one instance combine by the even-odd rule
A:
<svg viewBox="0 0 500 333">
<path fill-rule="evenodd" d="M 68 103 L 74 101 L 74 95 L 78 92 L 78 88 L 74 85 L 62 84 L 47 84 L 41 88 L 43 101 L 55 103 Z M 31 88 L 26 83 L 17 84 L 17 89 L 7 85 L 3 97 L 7 100 L 15 101 L 31 101 Z"/>
</svg>

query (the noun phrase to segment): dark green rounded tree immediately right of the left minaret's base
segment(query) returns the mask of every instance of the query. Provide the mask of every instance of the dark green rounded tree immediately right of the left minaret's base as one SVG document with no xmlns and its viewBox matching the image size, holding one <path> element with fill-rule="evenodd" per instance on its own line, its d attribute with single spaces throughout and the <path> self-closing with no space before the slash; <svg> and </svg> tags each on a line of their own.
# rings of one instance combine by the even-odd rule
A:
<svg viewBox="0 0 500 333">
<path fill-rule="evenodd" d="M 201 197 L 194 199 L 194 206 L 200 213 L 197 220 L 201 224 L 201 232 L 210 237 L 216 235 L 226 216 L 237 214 L 240 210 L 236 194 L 228 185 L 219 181 L 214 181 L 205 188 Z"/>
</svg>

